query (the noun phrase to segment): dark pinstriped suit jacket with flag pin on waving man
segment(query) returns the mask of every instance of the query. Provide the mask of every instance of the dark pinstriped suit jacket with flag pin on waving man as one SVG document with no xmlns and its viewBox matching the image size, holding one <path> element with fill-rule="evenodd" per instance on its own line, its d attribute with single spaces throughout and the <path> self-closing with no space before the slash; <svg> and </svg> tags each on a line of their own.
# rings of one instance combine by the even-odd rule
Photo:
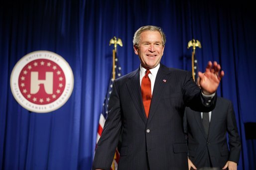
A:
<svg viewBox="0 0 256 170">
<path fill-rule="evenodd" d="M 185 106 L 201 111 L 215 107 L 216 97 L 210 104 L 202 98 L 190 72 L 160 64 L 146 118 L 139 69 L 116 79 L 93 169 L 110 169 L 122 135 L 119 170 L 187 170 L 184 110 Z"/>
</svg>

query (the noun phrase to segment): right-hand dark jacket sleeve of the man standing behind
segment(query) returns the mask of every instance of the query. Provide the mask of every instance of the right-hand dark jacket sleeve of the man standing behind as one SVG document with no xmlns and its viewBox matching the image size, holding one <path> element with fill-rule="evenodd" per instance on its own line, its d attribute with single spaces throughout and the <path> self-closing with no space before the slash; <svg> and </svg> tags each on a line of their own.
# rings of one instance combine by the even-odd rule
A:
<svg viewBox="0 0 256 170">
<path fill-rule="evenodd" d="M 229 136 L 229 147 L 230 147 L 229 161 L 238 163 L 240 152 L 241 152 L 241 142 L 240 142 L 240 137 L 238 133 L 234 107 L 231 101 L 229 102 L 229 107 L 228 107 L 227 132 Z"/>
</svg>

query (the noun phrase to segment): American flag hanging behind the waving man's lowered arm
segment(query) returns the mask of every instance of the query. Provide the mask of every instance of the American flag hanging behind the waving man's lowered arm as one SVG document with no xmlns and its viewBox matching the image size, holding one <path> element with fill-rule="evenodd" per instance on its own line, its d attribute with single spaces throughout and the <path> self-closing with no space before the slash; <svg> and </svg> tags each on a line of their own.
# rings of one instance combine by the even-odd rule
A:
<svg viewBox="0 0 256 170">
<path fill-rule="evenodd" d="M 116 78 L 121 77 L 121 67 L 119 66 L 119 61 L 118 61 L 117 55 L 116 55 L 116 58 L 115 58 L 115 75 L 116 75 L 115 76 Z M 113 78 L 113 73 L 112 73 L 111 77 L 110 77 L 110 81 L 109 81 L 108 92 L 107 92 L 106 97 L 104 99 L 104 103 L 103 103 L 103 106 L 102 106 L 102 112 L 101 112 L 101 115 L 100 115 L 100 121 L 99 121 L 98 133 L 97 133 L 97 143 L 98 143 L 98 141 L 101 137 L 103 127 L 104 127 L 105 121 L 106 121 L 107 116 L 108 116 L 108 105 L 109 105 L 109 99 L 110 99 L 110 94 L 111 94 L 111 91 L 112 91 L 113 82 L 114 82 L 114 78 Z M 96 145 L 97 145 L 97 143 L 96 143 Z M 117 170 L 118 169 L 119 159 L 120 159 L 120 154 L 119 154 L 118 149 L 116 149 L 115 157 L 114 157 L 113 163 L 111 165 L 111 170 Z"/>
</svg>

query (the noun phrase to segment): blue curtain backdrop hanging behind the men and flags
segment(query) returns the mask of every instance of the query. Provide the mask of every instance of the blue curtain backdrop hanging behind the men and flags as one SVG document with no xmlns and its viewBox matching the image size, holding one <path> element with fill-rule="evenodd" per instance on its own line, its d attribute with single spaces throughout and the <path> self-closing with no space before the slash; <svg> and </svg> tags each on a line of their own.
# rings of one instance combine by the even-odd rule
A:
<svg viewBox="0 0 256 170">
<path fill-rule="evenodd" d="M 233 101 L 242 153 L 239 170 L 255 169 L 256 142 L 244 124 L 256 123 L 256 17 L 249 0 L 17 0 L 0 2 L 0 169 L 90 170 L 102 103 L 112 71 L 114 36 L 122 73 L 139 67 L 132 37 L 143 25 L 163 28 L 162 63 L 191 71 L 192 38 L 199 70 L 218 61 L 225 77 L 218 95 Z M 24 55 L 48 50 L 74 74 L 69 100 L 50 113 L 21 107 L 10 74 Z"/>
</svg>

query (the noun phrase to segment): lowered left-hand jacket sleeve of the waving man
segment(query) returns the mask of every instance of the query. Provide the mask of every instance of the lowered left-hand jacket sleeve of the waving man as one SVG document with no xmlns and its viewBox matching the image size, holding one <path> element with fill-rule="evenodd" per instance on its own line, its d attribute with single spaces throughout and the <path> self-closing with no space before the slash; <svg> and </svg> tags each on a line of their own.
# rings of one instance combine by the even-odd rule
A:
<svg viewBox="0 0 256 170">
<path fill-rule="evenodd" d="M 97 144 L 92 169 L 109 170 L 114 159 L 122 129 L 120 99 L 114 81 L 102 135 Z"/>
</svg>

